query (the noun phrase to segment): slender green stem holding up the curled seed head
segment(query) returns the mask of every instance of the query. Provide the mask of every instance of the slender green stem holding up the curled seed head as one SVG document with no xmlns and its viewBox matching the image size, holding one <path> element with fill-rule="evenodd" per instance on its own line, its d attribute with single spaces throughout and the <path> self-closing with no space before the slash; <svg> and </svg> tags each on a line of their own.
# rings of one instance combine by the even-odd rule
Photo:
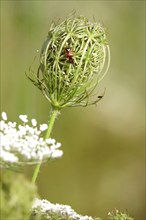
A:
<svg viewBox="0 0 146 220">
<path fill-rule="evenodd" d="M 48 121 L 48 129 L 47 129 L 47 132 L 46 132 L 45 139 L 50 137 L 50 134 L 51 134 L 51 131 L 53 129 L 53 125 L 54 125 L 55 119 L 57 118 L 57 115 L 59 113 L 60 113 L 59 109 L 55 109 L 54 107 L 52 107 L 51 112 L 50 112 L 50 119 Z M 33 176 L 32 176 L 32 183 L 36 182 L 37 176 L 38 176 L 39 171 L 40 171 L 41 164 L 42 163 L 40 162 L 35 167 L 35 170 L 34 170 L 34 173 L 33 173 Z"/>
</svg>

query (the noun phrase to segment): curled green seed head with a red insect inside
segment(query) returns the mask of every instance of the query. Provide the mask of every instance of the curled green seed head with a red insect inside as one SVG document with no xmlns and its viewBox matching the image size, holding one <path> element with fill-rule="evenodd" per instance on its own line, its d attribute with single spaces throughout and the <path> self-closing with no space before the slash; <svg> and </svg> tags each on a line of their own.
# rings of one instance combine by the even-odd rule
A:
<svg viewBox="0 0 146 220">
<path fill-rule="evenodd" d="M 104 28 L 83 16 L 71 15 L 51 25 L 40 54 L 37 76 L 28 75 L 53 107 L 97 103 L 91 94 L 105 76 L 110 62 Z"/>
</svg>

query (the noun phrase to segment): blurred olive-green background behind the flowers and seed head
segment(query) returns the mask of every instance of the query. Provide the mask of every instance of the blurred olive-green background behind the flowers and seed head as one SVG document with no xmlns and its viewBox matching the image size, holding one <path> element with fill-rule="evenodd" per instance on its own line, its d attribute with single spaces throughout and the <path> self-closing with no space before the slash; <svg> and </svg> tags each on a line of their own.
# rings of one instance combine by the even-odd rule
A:
<svg viewBox="0 0 146 220">
<path fill-rule="evenodd" d="M 106 219 L 114 208 L 145 217 L 145 1 L 1 1 L 1 111 L 48 120 L 50 106 L 25 77 L 52 20 L 72 10 L 107 28 L 111 66 L 96 106 L 64 109 L 52 137 L 64 156 L 37 180 L 43 199 Z M 31 178 L 33 168 L 26 168 Z"/>
</svg>

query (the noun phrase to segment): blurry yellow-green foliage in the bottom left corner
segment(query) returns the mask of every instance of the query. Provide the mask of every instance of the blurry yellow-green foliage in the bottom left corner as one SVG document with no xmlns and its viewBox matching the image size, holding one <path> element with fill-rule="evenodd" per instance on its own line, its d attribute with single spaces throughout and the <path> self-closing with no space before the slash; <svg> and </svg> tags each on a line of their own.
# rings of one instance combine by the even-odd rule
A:
<svg viewBox="0 0 146 220">
<path fill-rule="evenodd" d="M 0 175 L 0 218 L 5 220 L 28 219 L 32 202 L 36 198 L 36 187 L 22 174 L 1 171 Z"/>
</svg>

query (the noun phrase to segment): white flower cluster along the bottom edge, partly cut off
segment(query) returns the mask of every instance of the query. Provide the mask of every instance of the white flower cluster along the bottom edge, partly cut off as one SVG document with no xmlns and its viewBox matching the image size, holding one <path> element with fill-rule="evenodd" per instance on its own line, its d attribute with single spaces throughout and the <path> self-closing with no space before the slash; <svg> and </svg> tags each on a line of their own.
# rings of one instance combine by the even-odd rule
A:
<svg viewBox="0 0 146 220">
<path fill-rule="evenodd" d="M 32 217 L 61 220 L 93 220 L 92 217 L 77 214 L 69 205 L 52 204 L 47 200 L 36 199 L 32 206 Z M 34 218 L 35 219 L 35 218 Z"/>
</svg>

